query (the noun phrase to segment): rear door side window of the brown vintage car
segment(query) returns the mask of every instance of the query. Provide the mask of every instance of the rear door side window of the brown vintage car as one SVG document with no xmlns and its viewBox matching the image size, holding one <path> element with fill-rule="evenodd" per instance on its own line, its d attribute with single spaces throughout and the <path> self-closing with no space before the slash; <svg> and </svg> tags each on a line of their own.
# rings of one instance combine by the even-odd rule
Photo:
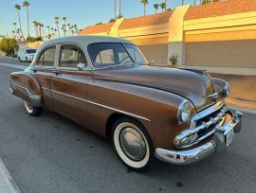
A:
<svg viewBox="0 0 256 193">
<path fill-rule="evenodd" d="M 53 66 L 55 60 L 56 47 L 47 48 L 40 56 L 36 65 L 39 66 Z"/>
</svg>

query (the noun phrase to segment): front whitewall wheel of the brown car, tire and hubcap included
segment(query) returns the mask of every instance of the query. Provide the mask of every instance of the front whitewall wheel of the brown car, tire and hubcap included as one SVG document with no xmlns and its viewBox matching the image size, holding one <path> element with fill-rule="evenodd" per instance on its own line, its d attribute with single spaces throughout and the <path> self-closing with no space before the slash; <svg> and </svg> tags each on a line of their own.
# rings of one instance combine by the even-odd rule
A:
<svg viewBox="0 0 256 193">
<path fill-rule="evenodd" d="M 154 146 L 143 125 L 131 118 L 120 118 L 112 130 L 112 143 L 127 167 L 144 172 L 155 162 Z"/>
</svg>

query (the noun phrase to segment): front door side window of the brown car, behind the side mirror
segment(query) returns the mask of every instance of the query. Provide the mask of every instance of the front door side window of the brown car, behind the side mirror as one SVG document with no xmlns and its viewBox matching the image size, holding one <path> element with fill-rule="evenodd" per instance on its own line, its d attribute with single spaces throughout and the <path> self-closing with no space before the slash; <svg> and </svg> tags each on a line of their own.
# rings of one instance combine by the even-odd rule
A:
<svg viewBox="0 0 256 193">
<path fill-rule="evenodd" d="M 82 50 L 76 45 L 63 45 L 61 49 L 60 67 L 76 68 L 79 62 L 87 65 Z"/>
</svg>

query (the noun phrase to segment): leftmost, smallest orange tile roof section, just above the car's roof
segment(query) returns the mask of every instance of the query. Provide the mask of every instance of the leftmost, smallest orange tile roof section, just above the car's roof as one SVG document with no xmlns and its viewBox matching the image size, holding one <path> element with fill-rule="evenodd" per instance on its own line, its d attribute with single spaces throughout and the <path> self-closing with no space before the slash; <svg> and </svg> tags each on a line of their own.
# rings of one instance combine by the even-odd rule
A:
<svg viewBox="0 0 256 193">
<path fill-rule="evenodd" d="M 80 34 L 93 34 L 93 33 L 101 33 L 101 32 L 108 32 L 110 31 L 111 27 L 115 24 L 115 22 L 101 24 L 101 25 L 95 25 L 95 26 L 87 26 Z"/>
</svg>

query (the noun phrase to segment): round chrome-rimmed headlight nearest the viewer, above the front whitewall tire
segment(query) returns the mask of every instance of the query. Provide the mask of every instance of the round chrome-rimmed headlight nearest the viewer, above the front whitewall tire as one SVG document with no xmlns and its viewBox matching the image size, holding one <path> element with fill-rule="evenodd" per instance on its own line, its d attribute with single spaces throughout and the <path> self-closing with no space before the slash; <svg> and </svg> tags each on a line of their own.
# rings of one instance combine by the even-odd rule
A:
<svg viewBox="0 0 256 193">
<path fill-rule="evenodd" d="M 182 101 L 178 107 L 178 112 L 177 112 L 178 124 L 187 122 L 190 119 L 191 114 L 192 114 L 191 104 L 186 100 Z"/>
</svg>

